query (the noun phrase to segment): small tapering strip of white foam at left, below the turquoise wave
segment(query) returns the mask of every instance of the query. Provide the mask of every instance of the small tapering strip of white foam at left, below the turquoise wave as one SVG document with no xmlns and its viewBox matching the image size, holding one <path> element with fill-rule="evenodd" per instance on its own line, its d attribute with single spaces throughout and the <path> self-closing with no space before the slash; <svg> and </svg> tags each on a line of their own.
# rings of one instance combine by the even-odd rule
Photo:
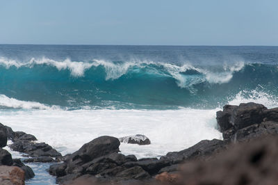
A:
<svg viewBox="0 0 278 185">
<path fill-rule="evenodd" d="M 45 104 L 40 104 L 38 102 L 22 101 L 1 94 L 0 94 L 0 106 L 5 106 L 8 108 L 25 108 L 25 109 L 47 109 L 47 110 L 60 109 L 59 106 L 47 106 Z"/>
</svg>

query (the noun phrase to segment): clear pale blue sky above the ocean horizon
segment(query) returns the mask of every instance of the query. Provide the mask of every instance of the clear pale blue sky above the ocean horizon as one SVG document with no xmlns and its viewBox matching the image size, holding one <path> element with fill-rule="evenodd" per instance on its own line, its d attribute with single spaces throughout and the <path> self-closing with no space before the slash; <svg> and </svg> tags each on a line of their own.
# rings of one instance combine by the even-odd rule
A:
<svg viewBox="0 0 278 185">
<path fill-rule="evenodd" d="M 277 9 L 277 0 L 0 0 L 0 43 L 278 45 Z"/>
</svg>

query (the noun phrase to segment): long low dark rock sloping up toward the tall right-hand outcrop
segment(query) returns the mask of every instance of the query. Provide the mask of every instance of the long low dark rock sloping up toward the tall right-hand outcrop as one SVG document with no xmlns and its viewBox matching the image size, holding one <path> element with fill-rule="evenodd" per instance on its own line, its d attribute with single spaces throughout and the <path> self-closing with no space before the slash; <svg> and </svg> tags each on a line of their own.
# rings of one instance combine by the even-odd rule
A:
<svg viewBox="0 0 278 185">
<path fill-rule="evenodd" d="M 181 163 L 184 160 L 212 155 L 215 152 L 224 150 L 224 148 L 225 144 L 223 140 L 202 140 L 186 150 L 181 150 L 180 152 L 169 152 L 166 156 L 162 156 L 161 159 L 166 159 L 167 161 L 171 161 L 171 163 Z"/>
</svg>

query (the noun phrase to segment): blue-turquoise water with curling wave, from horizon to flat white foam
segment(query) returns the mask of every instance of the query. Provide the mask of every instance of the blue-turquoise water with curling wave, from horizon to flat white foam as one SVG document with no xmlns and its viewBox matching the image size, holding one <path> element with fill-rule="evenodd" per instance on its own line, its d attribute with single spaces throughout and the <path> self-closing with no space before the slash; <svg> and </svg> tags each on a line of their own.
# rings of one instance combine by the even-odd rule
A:
<svg viewBox="0 0 278 185">
<path fill-rule="evenodd" d="M 0 106 L 215 108 L 258 89 L 276 98 L 277 58 L 278 47 L 0 45 Z"/>
</svg>

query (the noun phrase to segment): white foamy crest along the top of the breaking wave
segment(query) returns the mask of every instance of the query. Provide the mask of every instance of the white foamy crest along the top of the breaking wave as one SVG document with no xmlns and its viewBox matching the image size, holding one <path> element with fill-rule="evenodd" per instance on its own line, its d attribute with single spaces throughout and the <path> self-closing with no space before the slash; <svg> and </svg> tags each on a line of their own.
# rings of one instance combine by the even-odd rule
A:
<svg viewBox="0 0 278 185">
<path fill-rule="evenodd" d="M 130 61 L 124 63 L 113 63 L 110 61 L 104 60 L 95 60 L 93 59 L 89 62 L 75 62 L 66 59 L 65 61 L 54 61 L 49 58 L 31 58 L 30 61 L 26 63 L 20 63 L 15 60 L 8 60 L 7 58 L 0 57 L 0 65 L 5 66 L 6 68 L 15 66 L 15 67 L 33 67 L 33 65 L 50 65 L 56 67 L 58 70 L 70 70 L 72 76 L 74 77 L 83 77 L 85 70 L 90 69 L 90 67 L 97 67 L 99 65 L 103 66 L 106 71 L 106 80 L 115 80 L 122 75 L 126 74 L 129 69 L 133 67 L 138 67 L 139 69 L 149 67 L 149 65 L 154 65 L 157 67 L 163 67 L 165 73 L 158 72 L 154 67 L 152 72 L 156 74 L 161 74 L 165 77 L 173 77 L 177 80 L 177 85 L 181 88 L 190 88 L 197 83 L 202 83 L 208 81 L 209 83 L 227 83 L 233 77 L 234 72 L 238 72 L 243 69 L 244 63 L 237 62 L 233 65 L 224 65 L 222 72 L 212 72 L 210 70 L 193 67 L 189 63 L 183 64 L 181 66 L 174 65 L 170 63 L 154 63 L 153 61 Z M 183 75 L 181 72 L 186 72 L 186 70 L 196 70 L 204 75 L 193 75 L 188 77 L 188 75 Z M 170 75 L 169 75 L 170 74 Z"/>
</svg>

